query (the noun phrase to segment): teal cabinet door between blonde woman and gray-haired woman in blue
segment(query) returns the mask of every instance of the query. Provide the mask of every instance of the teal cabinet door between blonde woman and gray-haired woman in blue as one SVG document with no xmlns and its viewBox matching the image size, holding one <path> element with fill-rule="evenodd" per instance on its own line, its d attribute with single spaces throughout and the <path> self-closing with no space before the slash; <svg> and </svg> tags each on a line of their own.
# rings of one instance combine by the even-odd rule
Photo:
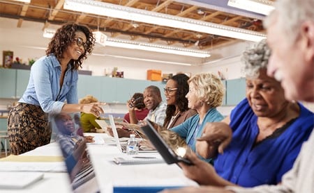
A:
<svg viewBox="0 0 314 193">
<path fill-rule="evenodd" d="M 227 81 L 227 106 L 235 106 L 246 97 L 246 78 Z"/>
</svg>

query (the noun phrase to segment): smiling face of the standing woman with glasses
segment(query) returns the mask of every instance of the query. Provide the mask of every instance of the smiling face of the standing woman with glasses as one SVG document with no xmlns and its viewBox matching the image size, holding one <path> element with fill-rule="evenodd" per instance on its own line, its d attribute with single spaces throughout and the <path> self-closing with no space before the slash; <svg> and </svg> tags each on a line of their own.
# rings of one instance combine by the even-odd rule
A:
<svg viewBox="0 0 314 193">
<path fill-rule="evenodd" d="M 77 45 L 82 42 L 82 44 L 79 46 Z M 82 31 L 77 31 L 75 32 L 75 37 L 74 41 L 67 47 L 66 51 L 63 54 L 63 57 L 68 59 L 68 60 L 77 60 L 84 54 L 85 49 L 84 49 L 84 43 L 87 42 L 87 37 Z"/>
</svg>

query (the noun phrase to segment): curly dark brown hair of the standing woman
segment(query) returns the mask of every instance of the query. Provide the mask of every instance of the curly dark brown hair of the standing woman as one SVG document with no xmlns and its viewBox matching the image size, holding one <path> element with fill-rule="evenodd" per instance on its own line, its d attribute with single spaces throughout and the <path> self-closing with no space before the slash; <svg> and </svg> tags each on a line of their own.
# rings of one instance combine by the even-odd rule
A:
<svg viewBox="0 0 314 193">
<path fill-rule="evenodd" d="M 58 60 L 63 58 L 63 52 L 66 51 L 68 46 L 73 43 L 75 38 L 75 32 L 82 31 L 87 37 L 87 48 L 80 58 L 77 60 L 71 60 L 71 69 L 78 69 L 82 67 L 82 62 L 87 58 L 87 54 L 91 54 L 95 44 L 95 38 L 91 29 L 88 26 L 79 25 L 75 23 L 64 24 L 57 30 L 50 41 L 48 48 L 46 50 L 47 56 L 53 53 Z"/>
</svg>

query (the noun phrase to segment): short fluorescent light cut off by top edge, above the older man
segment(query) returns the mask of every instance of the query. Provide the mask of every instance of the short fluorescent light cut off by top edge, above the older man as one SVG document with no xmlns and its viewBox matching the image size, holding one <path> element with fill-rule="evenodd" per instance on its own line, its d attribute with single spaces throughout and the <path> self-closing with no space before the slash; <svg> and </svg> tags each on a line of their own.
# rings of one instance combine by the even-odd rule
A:
<svg viewBox="0 0 314 193">
<path fill-rule="evenodd" d="M 269 15 L 274 10 L 274 2 L 268 0 L 229 0 L 227 5 L 262 15 Z"/>
</svg>

